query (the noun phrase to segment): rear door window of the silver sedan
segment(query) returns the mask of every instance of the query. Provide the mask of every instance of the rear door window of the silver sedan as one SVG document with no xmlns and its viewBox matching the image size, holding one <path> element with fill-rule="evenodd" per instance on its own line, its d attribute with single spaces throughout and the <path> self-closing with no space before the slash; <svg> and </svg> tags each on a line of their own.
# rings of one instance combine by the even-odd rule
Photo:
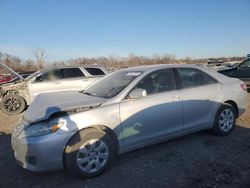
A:
<svg viewBox="0 0 250 188">
<path fill-rule="evenodd" d="M 190 88 L 206 84 L 204 74 L 198 69 L 179 68 L 177 71 L 182 82 L 182 88 Z"/>
</svg>

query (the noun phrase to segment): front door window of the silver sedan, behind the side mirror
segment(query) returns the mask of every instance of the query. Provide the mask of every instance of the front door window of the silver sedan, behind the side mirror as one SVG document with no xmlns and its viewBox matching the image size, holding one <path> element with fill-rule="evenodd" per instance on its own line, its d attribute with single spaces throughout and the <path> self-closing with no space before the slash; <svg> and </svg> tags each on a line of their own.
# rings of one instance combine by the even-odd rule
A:
<svg viewBox="0 0 250 188">
<path fill-rule="evenodd" d="M 171 69 L 153 72 L 143 78 L 136 88 L 145 89 L 147 94 L 161 93 L 175 89 L 175 82 Z"/>
</svg>

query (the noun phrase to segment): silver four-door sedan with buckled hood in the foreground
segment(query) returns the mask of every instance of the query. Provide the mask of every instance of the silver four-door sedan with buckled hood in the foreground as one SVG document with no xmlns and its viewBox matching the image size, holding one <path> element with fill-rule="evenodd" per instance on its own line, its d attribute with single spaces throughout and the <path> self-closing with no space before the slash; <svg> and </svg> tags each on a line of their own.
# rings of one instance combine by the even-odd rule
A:
<svg viewBox="0 0 250 188">
<path fill-rule="evenodd" d="M 38 95 L 12 134 L 31 171 L 105 170 L 117 154 L 196 131 L 230 134 L 246 109 L 246 85 L 195 65 L 127 68 L 83 92 Z"/>
</svg>

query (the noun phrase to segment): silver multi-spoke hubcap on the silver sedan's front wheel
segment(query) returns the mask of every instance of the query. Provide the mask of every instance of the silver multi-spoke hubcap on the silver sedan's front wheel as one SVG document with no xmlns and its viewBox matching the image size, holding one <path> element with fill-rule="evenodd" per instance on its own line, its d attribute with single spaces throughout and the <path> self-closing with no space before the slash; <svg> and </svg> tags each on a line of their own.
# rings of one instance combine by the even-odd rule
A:
<svg viewBox="0 0 250 188">
<path fill-rule="evenodd" d="M 85 142 L 77 152 L 78 167 L 88 173 L 100 170 L 109 157 L 108 146 L 102 140 L 91 139 Z"/>
</svg>

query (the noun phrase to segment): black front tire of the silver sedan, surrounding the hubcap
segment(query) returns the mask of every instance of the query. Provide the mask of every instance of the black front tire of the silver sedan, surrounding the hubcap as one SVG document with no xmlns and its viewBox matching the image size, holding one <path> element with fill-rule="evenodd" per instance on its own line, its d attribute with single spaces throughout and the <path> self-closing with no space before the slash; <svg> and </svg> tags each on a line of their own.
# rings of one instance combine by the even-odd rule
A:
<svg viewBox="0 0 250 188">
<path fill-rule="evenodd" d="M 83 146 L 85 143 L 87 143 L 88 141 L 91 141 L 93 139 L 98 140 L 97 142 L 104 142 L 108 148 L 108 159 L 106 160 L 106 163 L 104 164 L 104 166 L 102 166 L 99 170 L 95 171 L 95 172 L 86 172 L 83 171 L 78 163 L 77 163 L 77 158 L 79 155 L 80 151 L 80 147 Z M 86 151 L 86 150 L 85 150 Z M 88 154 L 90 155 L 90 154 Z M 98 174 L 102 173 L 113 161 L 114 157 L 116 155 L 116 149 L 115 149 L 115 144 L 114 141 L 112 140 L 112 137 L 110 135 L 108 135 L 105 132 L 102 132 L 100 130 L 97 130 L 95 128 L 89 128 L 89 129 L 85 129 L 82 130 L 78 133 L 76 133 L 69 141 L 69 143 L 66 146 L 66 149 L 64 151 L 64 165 L 67 168 L 67 170 L 75 175 L 78 176 L 80 178 L 91 178 L 91 177 L 95 177 Z M 90 156 L 88 156 L 90 157 Z M 85 157 L 84 157 L 85 158 Z M 88 160 L 94 160 L 94 159 L 89 159 Z M 95 159 L 99 160 L 99 159 Z M 89 163 L 86 162 L 87 165 Z M 86 165 L 86 166 L 87 166 Z M 94 164 L 95 166 L 95 164 Z M 92 165 L 93 167 L 93 165 Z"/>
</svg>

